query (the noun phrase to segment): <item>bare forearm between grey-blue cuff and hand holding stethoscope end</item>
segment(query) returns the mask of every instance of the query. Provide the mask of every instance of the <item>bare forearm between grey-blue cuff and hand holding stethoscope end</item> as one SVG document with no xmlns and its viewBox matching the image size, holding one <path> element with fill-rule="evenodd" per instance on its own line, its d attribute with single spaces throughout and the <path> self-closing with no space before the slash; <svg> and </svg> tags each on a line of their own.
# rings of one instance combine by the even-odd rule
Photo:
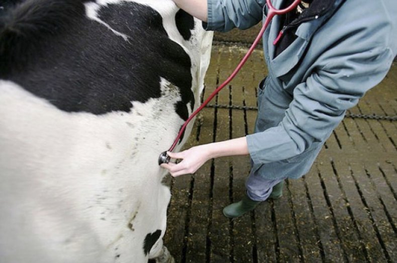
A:
<svg viewBox="0 0 397 263">
<path fill-rule="evenodd" d="M 211 158 L 249 154 L 246 137 L 214 142 L 206 146 L 208 147 L 208 153 Z"/>
</svg>

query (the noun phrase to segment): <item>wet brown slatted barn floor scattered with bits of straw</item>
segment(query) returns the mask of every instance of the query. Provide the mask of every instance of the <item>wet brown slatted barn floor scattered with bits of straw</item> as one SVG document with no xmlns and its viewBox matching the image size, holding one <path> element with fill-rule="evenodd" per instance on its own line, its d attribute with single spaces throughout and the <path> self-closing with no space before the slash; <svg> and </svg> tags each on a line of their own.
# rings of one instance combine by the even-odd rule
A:
<svg viewBox="0 0 397 263">
<path fill-rule="evenodd" d="M 204 98 L 245 48 L 214 46 Z M 212 104 L 256 107 L 266 75 L 256 50 Z M 397 115 L 397 63 L 349 114 Z M 254 110 L 205 108 L 186 147 L 252 133 Z M 229 220 L 248 157 L 218 158 L 193 176 L 166 178 L 172 199 L 164 240 L 176 262 L 397 262 L 397 121 L 345 118 L 310 172 L 288 180 L 283 197 Z"/>
</svg>

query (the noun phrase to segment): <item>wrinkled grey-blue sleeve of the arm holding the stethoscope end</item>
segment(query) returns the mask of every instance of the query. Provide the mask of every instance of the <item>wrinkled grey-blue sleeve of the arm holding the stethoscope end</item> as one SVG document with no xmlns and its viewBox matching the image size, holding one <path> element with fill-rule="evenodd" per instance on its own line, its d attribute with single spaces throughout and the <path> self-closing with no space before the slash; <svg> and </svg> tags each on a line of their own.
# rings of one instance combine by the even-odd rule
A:
<svg viewBox="0 0 397 263">
<path fill-rule="evenodd" d="M 297 85 L 278 126 L 247 136 L 254 163 L 268 163 L 303 153 L 324 142 L 366 91 L 386 75 L 395 52 L 374 47 L 330 52 L 306 82 Z"/>
</svg>

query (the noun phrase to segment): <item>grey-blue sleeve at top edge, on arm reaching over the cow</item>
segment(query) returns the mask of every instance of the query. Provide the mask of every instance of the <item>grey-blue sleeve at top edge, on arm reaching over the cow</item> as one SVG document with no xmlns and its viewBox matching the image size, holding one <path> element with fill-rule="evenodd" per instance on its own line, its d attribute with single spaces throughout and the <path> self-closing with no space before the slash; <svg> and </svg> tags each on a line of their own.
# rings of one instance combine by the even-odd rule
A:
<svg viewBox="0 0 397 263">
<path fill-rule="evenodd" d="M 206 30 L 227 32 L 235 27 L 247 29 L 262 20 L 265 0 L 208 0 Z"/>
</svg>

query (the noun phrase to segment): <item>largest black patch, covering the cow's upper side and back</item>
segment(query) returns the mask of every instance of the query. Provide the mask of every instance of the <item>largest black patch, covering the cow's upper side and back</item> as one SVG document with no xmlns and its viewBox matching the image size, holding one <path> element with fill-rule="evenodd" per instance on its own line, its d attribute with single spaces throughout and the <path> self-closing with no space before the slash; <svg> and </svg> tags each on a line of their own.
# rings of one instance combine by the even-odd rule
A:
<svg viewBox="0 0 397 263">
<path fill-rule="evenodd" d="M 66 112 L 129 112 L 131 101 L 159 98 L 160 77 L 180 90 L 177 114 L 194 104 L 190 58 L 150 7 L 122 2 L 85 16 L 82 1 L 27 0 L 0 18 L 0 78 Z"/>
</svg>

